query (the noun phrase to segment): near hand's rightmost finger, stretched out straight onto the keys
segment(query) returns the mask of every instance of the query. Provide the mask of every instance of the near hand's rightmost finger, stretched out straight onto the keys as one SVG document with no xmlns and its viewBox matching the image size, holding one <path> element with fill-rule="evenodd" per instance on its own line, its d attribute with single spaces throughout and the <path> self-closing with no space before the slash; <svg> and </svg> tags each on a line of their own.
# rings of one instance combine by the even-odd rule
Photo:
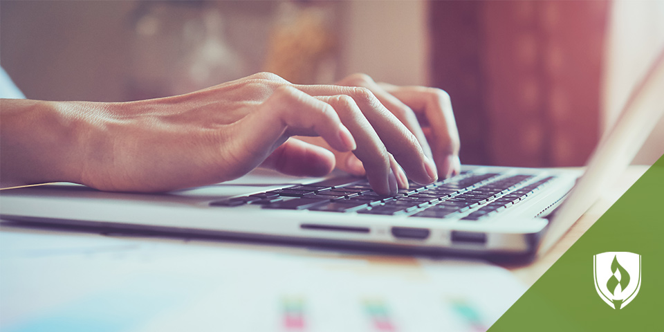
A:
<svg viewBox="0 0 664 332">
<path fill-rule="evenodd" d="M 311 95 L 342 94 L 350 96 L 378 134 L 387 151 L 394 155 L 409 178 L 418 183 L 432 183 L 438 178 L 435 165 L 425 156 L 417 138 L 380 103 L 369 89 L 326 85 L 296 87 Z M 355 133 L 353 133 L 354 135 Z M 360 158 L 360 160 L 365 164 L 368 176 L 372 172 L 371 165 L 367 165 L 365 159 Z"/>
</svg>

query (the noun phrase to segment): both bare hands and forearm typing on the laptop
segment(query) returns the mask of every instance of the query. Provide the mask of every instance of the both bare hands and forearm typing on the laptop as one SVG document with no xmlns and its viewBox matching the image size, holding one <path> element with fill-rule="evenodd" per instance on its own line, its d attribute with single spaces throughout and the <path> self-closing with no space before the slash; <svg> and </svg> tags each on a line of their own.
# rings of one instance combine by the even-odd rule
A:
<svg viewBox="0 0 664 332">
<path fill-rule="evenodd" d="M 446 93 L 362 74 L 297 85 L 258 73 L 136 102 L 1 100 L 0 112 L 2 187 L 67 181 L 166 192 L 259 166 L 298 176 L 336 167 L 394 194 L 407 177 L 431 183 L 460 167 Z"/>
</svg>

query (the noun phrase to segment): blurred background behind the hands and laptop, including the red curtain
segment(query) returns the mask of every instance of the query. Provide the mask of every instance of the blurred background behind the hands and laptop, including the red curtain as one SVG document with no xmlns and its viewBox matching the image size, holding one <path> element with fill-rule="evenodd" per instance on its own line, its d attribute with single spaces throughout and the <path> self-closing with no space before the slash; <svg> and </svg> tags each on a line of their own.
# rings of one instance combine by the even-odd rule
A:
<svg viewBox="0 0 664 332">
<path fill-rule="evenodd" d="M 463 163 L 578 166 L 664 48 L 663 17 L 656 0 L 3 0 L 0 64 L 41 100 L 362 72 L 448 91 Z M 663 153 L 660 120 L 634 163 Z"/>
</svg>

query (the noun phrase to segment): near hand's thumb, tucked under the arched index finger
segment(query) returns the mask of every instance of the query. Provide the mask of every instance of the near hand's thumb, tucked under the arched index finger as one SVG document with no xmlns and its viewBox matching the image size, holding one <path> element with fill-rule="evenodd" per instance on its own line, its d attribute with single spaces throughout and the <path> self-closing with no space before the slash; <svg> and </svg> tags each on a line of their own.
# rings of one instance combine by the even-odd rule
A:
<svg viewBox="0 0 664 332">
<path fill-rule="evenodd" d="M 324 176 L 334 169 L 335 156 L 323 147 L 288 138 L 261 166 L 293 176 Z"/>
</svg>

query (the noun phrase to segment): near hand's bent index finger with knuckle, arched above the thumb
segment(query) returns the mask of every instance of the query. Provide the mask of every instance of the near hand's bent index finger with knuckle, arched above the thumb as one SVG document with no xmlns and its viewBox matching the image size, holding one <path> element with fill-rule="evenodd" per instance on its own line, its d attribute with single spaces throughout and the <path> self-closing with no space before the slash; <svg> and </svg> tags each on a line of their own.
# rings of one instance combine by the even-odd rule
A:
<svg viewBox="0 0 664 332">
<path fill-rule="evenodd" d="M 240 172 L 262 163 L 293 135 L 321 136 L 340 151 L 356 148 L 350 131 L 329 104 L 291 86 L 277 89 L 257 111 L 228 130 L 236 140 L 231 154 Z"/>
</svg>

